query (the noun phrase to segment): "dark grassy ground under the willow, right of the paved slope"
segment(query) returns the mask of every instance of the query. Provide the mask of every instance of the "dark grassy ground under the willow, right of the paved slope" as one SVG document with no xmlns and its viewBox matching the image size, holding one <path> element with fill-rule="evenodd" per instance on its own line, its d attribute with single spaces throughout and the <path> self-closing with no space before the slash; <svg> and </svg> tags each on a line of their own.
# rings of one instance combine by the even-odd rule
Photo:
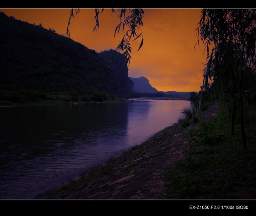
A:
<svg viewBox="0 0 256 216">
<path fill-rule="evenodd" d="M 245 106 L 247 149 L 243 148 L 240 124 L 231 136 L 228 109 L 220 104 L 212 121 L 208 142 L 197 137 L 187 157 L 178 161 L 178 171 L 166 174 L 167 199 L 255 199 L 256 198 L 256 104 Z M 190 152 L 189 152 L 190 151 Z"/>
</svg>

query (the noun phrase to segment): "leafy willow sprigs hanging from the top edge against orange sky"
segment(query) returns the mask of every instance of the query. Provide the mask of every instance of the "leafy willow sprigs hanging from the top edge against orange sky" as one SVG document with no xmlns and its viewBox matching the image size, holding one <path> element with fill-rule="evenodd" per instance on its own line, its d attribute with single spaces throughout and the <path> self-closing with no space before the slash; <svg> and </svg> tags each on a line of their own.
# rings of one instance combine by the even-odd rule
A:
<svg viewBox="0 0 256 216">
<path fill-rule="evenodd" d="M 100 13 L 103 12 L 103 10 L 104 8 L 102 8 L 100 12 L 100 9 L 95 8 L 94 19 L 96 21 L 96 24 L 94 27 L 94 31 L 97 31 L 100 28 L 99 15 Z M 68 22 L 68 27 L 66 32 L 66 35 L 68 35 L 69 37 L 70 37 L 70 32 L 69 32 L 70 20 L 72 17 L 74 18 L 74 15 L 77 15 L 79 12 L 80 12 L 80 8 L 77 8 L 77 9 L 72 8 L 70 11 L 69 22 Z M 115 13 L 113 8 L 111 9 L 111 12 Z M 127 8 L 118 9 L 117 15 L 119 17 L 120 23 L 117 25 L 115 29 L 114 36 L 116 36 L 116 34 L 118 34 L 121 29 L 123 30 L 123 38 L 120 44 L 117 46 L 116 52 L 120 52 L 126 57 L 126 61 L 124 64 L 129 64 L 131 59 L 131 53 L 132 53 L 132 47 L 130 46 L 130 41 L 142 38 L 139 49 L 137 51 L 139 51 L 143 45 L 144 39 L 143 39 L 141 27 L 143 26 L 142 17 L 143 17 L 144 11 L 140 8 L 134 8 L 134 9 L 129 9 L 128 16 L 126 16 L 126 13 L 127 13 Z"/>
</svg>

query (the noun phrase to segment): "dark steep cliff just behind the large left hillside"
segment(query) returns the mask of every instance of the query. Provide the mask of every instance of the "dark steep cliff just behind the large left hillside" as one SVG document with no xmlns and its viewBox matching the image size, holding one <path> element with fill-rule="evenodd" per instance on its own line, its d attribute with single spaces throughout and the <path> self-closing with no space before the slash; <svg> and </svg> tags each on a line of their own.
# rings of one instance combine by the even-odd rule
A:
<svg viewBox="0 0 256 216">
<path fill-rule="evenodd" d="M 125 57 L 121 53 L 116 53 L 116 55 L 114 55 L 115 53 L 116 51 L 114 50 L 107 50 L 98 53 L 98 55 L 109 64 L 110 69 L 117 77 L 122 88 L 122 96 L 124 98 L 129 98 L 133 91 L 133 81 L 128 77 L 128 67 L 127 65 L 124 65 Z M 113 56 L 113 61 L 111 61 Z"/>
</svg>

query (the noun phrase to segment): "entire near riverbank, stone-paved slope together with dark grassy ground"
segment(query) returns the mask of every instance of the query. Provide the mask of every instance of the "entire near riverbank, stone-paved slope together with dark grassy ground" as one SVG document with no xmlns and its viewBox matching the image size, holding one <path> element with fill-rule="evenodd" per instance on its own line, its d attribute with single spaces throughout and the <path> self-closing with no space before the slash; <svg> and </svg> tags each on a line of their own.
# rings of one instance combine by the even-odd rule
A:
<svg viewBox="0 0 256 216">
<path fill-rule="evenodd" d="M 213 104 L 198 115 L 207 116 L 212 127 L 208 143 L 194 142 L 190 148 L 184 138 L 189 127 L 177 123 L 35 199 L 255 199 L 254 110 L 246 109 L 246 150 L 239 124 L 231 137 L 228 109 Z"/>
</svg>

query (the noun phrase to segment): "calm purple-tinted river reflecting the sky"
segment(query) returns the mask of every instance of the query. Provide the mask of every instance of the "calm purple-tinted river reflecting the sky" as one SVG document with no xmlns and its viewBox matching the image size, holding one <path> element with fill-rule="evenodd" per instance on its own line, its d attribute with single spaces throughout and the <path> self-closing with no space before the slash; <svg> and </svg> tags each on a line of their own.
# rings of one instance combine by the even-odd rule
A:
<svg viewBox="0 0 256 216">
<path fill-rule="evenodd" d="M 0 108 L 0 199 L 33 199 L 175 123 L 190 101 Z"/>
</svg>

